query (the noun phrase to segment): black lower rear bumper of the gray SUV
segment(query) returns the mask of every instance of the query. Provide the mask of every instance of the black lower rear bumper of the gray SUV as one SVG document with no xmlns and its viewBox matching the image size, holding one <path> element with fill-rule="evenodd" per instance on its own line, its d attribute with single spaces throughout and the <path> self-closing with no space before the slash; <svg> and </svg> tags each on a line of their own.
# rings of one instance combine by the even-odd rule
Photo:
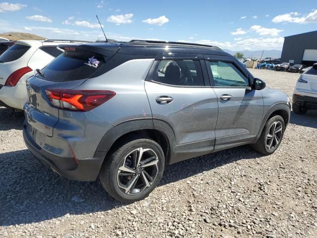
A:
<svg viewBox="0 0 317 238">
<path fill-rule="evenodd" d="M 58 157 L 43 150 L 30 138 L 27 126 L 24 122 L 23 139 L 26 146 L 45 166 L 53 169 L 57 174 L 66 179 L 80 181 L 94 181 L 97 179 L 100 168 L 104 161 L 104 153 L 99 156 L 97 153 L 94 158 L 85 158 L 77 160 L 74 158 Z"/>
</svg>

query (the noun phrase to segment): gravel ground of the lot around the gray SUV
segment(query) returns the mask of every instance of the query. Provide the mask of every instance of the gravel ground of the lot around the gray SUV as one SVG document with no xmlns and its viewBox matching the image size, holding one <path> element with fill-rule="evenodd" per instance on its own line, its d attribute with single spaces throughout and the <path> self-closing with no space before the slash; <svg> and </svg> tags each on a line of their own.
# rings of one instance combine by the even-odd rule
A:
<svg viewBox="0 0 317 238">
<path fill-rule="evenodd" d="M 292 96 L 299 74 L 252 69 Z M 317 111 L 291 115 L 270 156 L 238 147 L 167 166 L 148 198 L 122 204 L 99 181 L 60 178 L 0 109 L 0 237 L 317 237 Z"/>
</svg>

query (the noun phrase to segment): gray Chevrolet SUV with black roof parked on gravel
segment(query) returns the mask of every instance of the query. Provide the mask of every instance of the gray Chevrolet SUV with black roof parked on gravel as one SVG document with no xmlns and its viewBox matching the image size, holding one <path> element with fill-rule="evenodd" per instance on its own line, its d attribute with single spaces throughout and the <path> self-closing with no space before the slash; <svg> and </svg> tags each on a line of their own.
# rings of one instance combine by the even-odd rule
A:
<svg viewBox="0 0 317 238">
<path fill-rule="evenodd" d="M 63 54 L 27 80 L 25 143 L 55 173 L 99 176 L 123 202 L 145 198 L 166 164 L 245 144 L 271 154 L 289 122 L 287 96 L 218 47 L 59 47 Z"/>
</svg>

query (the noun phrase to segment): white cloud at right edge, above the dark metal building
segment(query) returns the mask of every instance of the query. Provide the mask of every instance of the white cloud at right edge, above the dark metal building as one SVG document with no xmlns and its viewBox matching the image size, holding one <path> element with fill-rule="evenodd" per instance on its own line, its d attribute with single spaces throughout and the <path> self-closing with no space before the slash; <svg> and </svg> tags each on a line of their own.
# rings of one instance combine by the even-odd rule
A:
<svg viewBox="0 0 317 238">
<path fill-rule="evenodd" d="M 272 19 L 272 22 L 281 23 L 281 22 L 292 22 L 299 24 L 307 23 L 317 23 L 317 9 L 313 10 L 307 15 L 300 17 L 301 13 L 299 12 L 290 12 L 282 15 L 275 16 Z"/>
</svg>

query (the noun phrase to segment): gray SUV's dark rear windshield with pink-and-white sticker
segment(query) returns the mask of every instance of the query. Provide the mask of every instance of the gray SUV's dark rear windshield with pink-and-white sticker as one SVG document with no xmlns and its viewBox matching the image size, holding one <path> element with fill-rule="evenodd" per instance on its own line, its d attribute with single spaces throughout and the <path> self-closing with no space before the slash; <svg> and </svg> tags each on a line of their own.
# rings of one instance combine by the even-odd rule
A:
<svg viewBox="0 0 317 238">
<path fill-rule="evenodd" d="M 92 52 L 65 51 L 37 76 L 53 82 L 87 79 L 105 63 L 103 56 Z"/>
</svg>

